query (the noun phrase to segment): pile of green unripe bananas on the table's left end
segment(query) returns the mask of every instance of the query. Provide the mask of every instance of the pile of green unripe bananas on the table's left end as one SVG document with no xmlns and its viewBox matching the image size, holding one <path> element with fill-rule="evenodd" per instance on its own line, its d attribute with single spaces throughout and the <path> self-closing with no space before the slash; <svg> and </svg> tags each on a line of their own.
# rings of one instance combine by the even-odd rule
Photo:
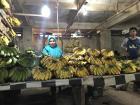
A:
<svg viewBox="0 0 140 105">
<path fill-rule="evenodd" d="M 31 77 L 36 62 L 31 54 L 21 54 L 17 48 L 0 46 L 0 82 L 7 78 L 12 81 L 25 81 Z"/>
</svg>

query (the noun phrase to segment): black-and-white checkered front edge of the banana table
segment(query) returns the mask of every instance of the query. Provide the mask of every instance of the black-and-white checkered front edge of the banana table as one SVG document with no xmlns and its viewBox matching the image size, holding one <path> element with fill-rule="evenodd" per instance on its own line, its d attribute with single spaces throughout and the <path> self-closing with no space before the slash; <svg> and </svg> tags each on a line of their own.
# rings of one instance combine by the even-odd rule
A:
<svg viewBox="0 0 140 105">
<path fill-rule="evenodd" d="M 140 81 L 140 73 L 110 76 L 88 76 L 85 78 L 52 79 L 48 81 L 26 81 L 0 84 L 0 91 L 52 86 L 118 86 L 131 81 Z"/>
</svg>

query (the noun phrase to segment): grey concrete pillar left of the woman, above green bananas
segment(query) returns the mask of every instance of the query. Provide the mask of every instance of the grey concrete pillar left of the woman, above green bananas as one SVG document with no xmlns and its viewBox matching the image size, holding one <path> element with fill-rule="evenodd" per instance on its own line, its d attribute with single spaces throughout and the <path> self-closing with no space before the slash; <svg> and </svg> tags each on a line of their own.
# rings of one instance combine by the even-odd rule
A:
<svg viewBox="0 0 140 105">
<path fill-rule="evenodd" d="M 32 47 L 32 27 L 23 27 L 23 36 L 19 43 L 21 52 L 24 52 L 26 49 Z"/>
</svg>

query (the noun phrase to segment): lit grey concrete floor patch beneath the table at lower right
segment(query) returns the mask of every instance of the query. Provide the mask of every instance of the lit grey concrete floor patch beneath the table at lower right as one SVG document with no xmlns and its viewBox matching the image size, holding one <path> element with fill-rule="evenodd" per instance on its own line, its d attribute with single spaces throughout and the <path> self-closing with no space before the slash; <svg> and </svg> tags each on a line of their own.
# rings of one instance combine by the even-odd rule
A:
<svg viewBox="0 0 140 105">
<path fill-rule="evenodd" d="M 140 105 L 140 94 L 108 88 L 103 97 L 89 101 L 90 105 Z"/>
</svg>

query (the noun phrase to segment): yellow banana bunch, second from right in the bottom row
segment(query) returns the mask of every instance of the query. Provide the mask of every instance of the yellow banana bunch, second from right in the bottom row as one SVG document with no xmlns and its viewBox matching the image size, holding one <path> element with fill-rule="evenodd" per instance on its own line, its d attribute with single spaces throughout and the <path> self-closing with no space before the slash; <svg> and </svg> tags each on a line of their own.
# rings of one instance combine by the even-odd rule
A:
<svg viewBox="0 0 140 105">
<path fill-rule="evenodd" d="M 105 70 L 106 70 L 106 73 L 109 75 L 119 75 L 121 73 L 122 66 L 120 63 L 106 64 Z"/>
</svg>

